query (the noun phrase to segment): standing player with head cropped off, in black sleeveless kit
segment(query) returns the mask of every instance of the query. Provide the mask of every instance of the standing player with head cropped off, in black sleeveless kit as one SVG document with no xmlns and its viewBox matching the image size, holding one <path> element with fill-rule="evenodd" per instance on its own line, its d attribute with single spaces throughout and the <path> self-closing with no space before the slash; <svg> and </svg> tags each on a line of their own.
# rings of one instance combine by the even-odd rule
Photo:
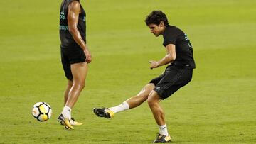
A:
<svg viewBox="0 0 256 144">
<path fill-rule="evenodd" d="M 60 52 L 68 86 L 64 93 L 64 108 L 58 121 L 67 129 L 74 129 L 72 125 L 82 124 L 71 118 L 71 109 L 85 87 L 88 64 L 92 61 L 85 39 L 85 18 L 85 10 L 79 0 L 63 0 L 60 6 Z"/>
</svg>

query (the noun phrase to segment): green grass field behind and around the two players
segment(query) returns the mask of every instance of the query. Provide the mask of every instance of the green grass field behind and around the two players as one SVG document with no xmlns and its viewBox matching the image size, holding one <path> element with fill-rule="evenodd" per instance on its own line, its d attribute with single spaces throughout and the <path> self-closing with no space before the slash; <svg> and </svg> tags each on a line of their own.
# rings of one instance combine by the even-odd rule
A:
<svg viewBox="0 0 256 144">
<path fill-rule="evenodd" d="M 173 143 L 256 143 L 256 1 L 81 1 L 93 61 L 74 131 L 56 121 L 67 83 L 61 1 L 0 1 L 0 143 L 151 143 L 158 127 L 147 104 L 111 120 L 92 108 L 121 103 L 164 70 L 148 63 L 165 52 L 144 24 L 155 9 L 188 34 L 196 60 L 192 82 L 161 102 Z M 37 101 L 52 107 L 49 121 L 31 116 Z"/>
</svg>

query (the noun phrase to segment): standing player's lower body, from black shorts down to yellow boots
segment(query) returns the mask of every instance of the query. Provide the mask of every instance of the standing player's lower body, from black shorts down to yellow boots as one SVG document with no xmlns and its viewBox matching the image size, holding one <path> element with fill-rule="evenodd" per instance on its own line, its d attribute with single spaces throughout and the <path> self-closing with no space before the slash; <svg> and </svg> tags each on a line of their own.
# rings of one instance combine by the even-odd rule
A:
<svg viewBox="0 0 256 144">
<path fill-rule="evenodd" d="M 65 77 L 68 79 L 68 87 L 65 89 L 64 101 L 65 106 L 62 113 L 58 116 L 58 121 L 62 123 L 65 128 L 73 128 L 70 125 L 81 125 L 82 123 L 75 122 L 71 118 L 71 109 L 78 99 L 80 91 L 82 89 L 77 89 L 77 86 L 80 85 L 82 88 L 85 85 L 85 78 L 87 75 L 87 64 L 81 65 L 80 63 L 85 63 L 85 54 L 80 48 L 61 48 L 61 62 L 63 65 L 63 70 L 65 72 Z M 79 77 L 79 79 L 78 79 Z M 75 84 L 74 84 L 75 79 Z M 78 79 L 78 80 L 77 80 Z M 79 81 L 81 80 L 81 82 Z M 75 93 L 74 93 L 75 92 Z M 68 102 L 73 101 L 73 103 Z M 68 106 L 67 106 L 68 104 Z"/>
</svg>

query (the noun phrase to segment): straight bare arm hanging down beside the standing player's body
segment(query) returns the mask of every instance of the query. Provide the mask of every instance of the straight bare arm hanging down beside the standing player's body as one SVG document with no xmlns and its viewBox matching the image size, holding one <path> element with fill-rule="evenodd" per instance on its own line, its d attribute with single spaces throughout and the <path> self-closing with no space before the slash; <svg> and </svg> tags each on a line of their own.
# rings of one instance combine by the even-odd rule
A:
<svg viewBox="0 0 256 144">
<path fill-rule="evenodd" d="M 82 48 L 82 50 L 85 52 L 85 62 L 90 63 L 92 61 L 92 56 L 90 55 L 90 51 L 88 50 L 85 41 L 82 40 L 82 36 L 77 27 L 80 11 L 81 8 L 78 1 L 73 1 L 68 6 L 68 31 L 70 31 L 71 35 L 73 36 L 75 43 L 78 43 L 80 48 Z"/>
</svg>

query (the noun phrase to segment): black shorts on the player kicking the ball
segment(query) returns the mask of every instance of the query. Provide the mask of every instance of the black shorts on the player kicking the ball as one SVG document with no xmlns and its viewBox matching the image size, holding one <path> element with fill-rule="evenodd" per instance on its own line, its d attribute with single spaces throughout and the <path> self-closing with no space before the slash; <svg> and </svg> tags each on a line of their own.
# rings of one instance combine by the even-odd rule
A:
<svg viewBox="0 0 256 144">
<path fill-rule="evenodd" d="M 166 99 L 171 94 L 174 94 L 178 89 L 188 84 L 191 81 L 193 69 L 191 67 L 176 67 L 169 65 L 163 74 L 150 83 L 155 85 L 154 91 L 159 94 L 161 99 Z"/>
</svg>

